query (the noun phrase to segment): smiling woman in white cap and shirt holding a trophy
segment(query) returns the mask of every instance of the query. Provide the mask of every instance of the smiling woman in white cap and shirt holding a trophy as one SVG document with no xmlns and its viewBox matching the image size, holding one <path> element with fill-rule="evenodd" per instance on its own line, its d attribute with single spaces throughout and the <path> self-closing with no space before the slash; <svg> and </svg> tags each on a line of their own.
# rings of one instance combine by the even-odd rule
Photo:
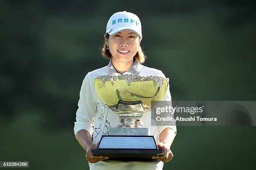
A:
<svg viewBox="0 0 256 170">
<path fill-rule="evenodd" d="M 165 78 L 160 70 L 141 65 L 145 60 L 140 46 L 141 40 L 141 23 L 135 14 L 126 11 L 113 14 L 107 24 L 105 44 L 102 50 L 102 55 L 110 59 L 110 62 L 108 66 L 89 72 L 83 80 L 74 133 L 80 145 L 87 152 L 86 160 L 92 170 L 102 168 L 105 170 L 161 170 L 163 163 L 169 162 L 173 157 L 169 148 L 176 135 L 176 126 L 151 126 L 151 119 L 148 118 L 151 117 L 150 112 L 143 115 L 142 121 L 144 127 L 150 128 L 151 134 L 157 140 L 158 147 L 164 150 L 164 156 L 153 157 L 159 161 L 123 162 L 108 160 L 108 157 L 105 156 L 93 156 L 91 153 L 92 149 L 97 148 L 100 137 L 108 135 L 108 128 L 115 127 L 118 122 L 118 114 L 109 110 L 97 97 L 93 78 L 108 74 L 156 75 Z M 171 100 L 169 86 L 164 100 Z"/>
</svg>

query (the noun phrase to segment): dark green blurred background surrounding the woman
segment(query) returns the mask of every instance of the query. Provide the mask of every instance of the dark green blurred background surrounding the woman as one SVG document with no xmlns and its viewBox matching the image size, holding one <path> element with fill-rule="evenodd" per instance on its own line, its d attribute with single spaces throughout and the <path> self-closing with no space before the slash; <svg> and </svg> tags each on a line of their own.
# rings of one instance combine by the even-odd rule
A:
<svg viewBox="0 0 256 170">
<path fill-rule="evenodd" d="M 0 161 L 86 170 L 73 127 L 110 16 L 139 16 L 172 100 L 256 100 L 256 1 L 0 1 Z M 177 127 L 168 169 L 255 169 L 256 127 Z M 22 168 L 23 169 L 23 168 Z"/>
</svg>

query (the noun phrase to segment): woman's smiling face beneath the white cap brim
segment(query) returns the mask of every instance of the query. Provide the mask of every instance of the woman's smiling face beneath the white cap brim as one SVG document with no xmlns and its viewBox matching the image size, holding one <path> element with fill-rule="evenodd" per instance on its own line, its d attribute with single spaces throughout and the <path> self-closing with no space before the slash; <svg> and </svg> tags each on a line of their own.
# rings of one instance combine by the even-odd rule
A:
<svg viewBox="0 0 256 170">
<path fill-rule="evenodd" d="M 141 42 L 139 36 L 131 30 L 123 30 L 116 34 L 110 35 L 106 39 L 109 46 L 112 60 L 118 62 L 128 62 L 133 60 L 133 57 L 138 52 L 138 46 Z"/>
</svg>

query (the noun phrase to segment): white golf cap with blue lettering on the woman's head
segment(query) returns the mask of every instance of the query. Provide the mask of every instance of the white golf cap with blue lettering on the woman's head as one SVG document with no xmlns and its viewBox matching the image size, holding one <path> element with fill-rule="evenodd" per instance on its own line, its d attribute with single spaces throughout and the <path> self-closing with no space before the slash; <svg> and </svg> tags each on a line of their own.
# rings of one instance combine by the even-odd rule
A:
<svg viewBox="0 0 256 170">
<path fill-rule="evenodd" d="M 106 33 L 113 35 L 123 30 L 131 30 L 142 37 L 141 21 L 138 16 L 126 11 L 114 13 L 108 20 Z"/>
</svg>

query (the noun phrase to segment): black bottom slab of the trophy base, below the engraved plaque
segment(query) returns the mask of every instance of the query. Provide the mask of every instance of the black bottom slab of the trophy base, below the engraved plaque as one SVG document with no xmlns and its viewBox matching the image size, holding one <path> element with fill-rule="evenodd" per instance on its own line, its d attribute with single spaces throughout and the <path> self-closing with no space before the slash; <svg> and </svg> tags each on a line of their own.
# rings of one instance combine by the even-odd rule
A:
<svg viewBox="0 0 256 170">
<path fill-rule="evenodd" d="M 93 156 L 108 156 L 110 160 L 156 160 L 153 156 L 163 156 L 163 150 L 152 149 L 97 149 L 92 150 Z"/>
</svg>

